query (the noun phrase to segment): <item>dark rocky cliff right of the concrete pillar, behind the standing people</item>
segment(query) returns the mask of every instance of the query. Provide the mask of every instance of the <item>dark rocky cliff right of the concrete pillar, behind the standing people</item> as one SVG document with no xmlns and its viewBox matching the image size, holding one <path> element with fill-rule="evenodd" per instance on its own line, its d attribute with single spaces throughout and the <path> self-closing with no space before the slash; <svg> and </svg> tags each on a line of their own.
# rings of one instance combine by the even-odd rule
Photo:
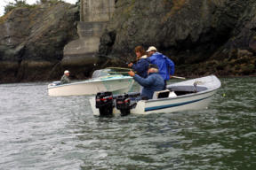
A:
<svg viewBox="0 0 256 170">
<path fill-rule="evenodd" d="M 117 0 L 100 55 L 120 65 L 135 46 L 154 45 L 176 63 L 177 74 L 253 74 L 255 9 L 254 0 Z"/>
</svg>

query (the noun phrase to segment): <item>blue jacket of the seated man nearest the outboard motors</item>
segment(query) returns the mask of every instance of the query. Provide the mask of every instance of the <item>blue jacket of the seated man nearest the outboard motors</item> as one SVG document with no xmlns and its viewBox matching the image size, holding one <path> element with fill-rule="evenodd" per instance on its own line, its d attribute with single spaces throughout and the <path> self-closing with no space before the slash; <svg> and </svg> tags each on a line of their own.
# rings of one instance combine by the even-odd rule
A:
<svg viewBox="0 0 256 170">
<path fill-rule="evenodd" d="M 133 79 L 143 86 L 140 97 L 148 97 L 148 99 L 151 99 L 155 91 L 164 89 L 164 79 L 159 73 L 149 73 L 146 79 L 135 74 Z"/>
</svg>

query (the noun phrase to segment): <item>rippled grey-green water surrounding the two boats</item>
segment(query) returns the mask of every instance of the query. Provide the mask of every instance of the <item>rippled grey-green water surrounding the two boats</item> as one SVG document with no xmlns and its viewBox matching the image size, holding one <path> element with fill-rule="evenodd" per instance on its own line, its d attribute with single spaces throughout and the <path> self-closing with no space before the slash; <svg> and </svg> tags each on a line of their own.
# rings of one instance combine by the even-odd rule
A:
<svg viewBox="0 0 256 170">
<path fill-rule="evenodd" d="M 47 83 L 0 85 L 0 169 L 255 169 L 256 78 L 221 79 L 208 110 L 99 118 Z"/>
</svg>

